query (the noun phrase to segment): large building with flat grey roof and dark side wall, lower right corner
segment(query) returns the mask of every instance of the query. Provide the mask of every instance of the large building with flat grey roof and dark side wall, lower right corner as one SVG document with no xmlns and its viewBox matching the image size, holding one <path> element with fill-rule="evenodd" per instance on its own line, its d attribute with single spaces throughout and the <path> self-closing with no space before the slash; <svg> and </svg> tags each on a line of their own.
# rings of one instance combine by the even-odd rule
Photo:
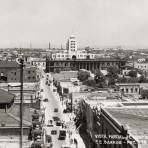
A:
<svg viewBox="0 0 148 148">
<path fill-rule="evenodd" d="M 102 108 L 100 113 L 101 148 L 147 148 L 148 147 L 148 106 L 143 104 L 115 108 Z M 114 138 L 113 138 L 114 136 Z M 109 139 L 110 137 L 110 139 Z M 100 141 L 101 140 L 101 141 Z"/>
</svg>

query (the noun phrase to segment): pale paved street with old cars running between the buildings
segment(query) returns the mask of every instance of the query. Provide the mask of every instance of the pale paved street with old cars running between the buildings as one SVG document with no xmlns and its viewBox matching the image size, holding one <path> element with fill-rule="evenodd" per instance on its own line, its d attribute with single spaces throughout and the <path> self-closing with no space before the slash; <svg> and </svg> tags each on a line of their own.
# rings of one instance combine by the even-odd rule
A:
<svg viewBox="0 0 148 148">
<path fill-rule="evenodd" d="M 62 113 L 62 107 L 61 102 L 58 100 L 58 97 L 56 97 L 56 93 L 52 92 L 52 86 L 48 86 L 46 83 L 46 77 L 41 79 L 40 87 L 41 89 L 44 89 L 44 91 L 41 93 L 42 99 L 47 98 L 48 102 L 42 101 L 42 106 L 45 107 L 45 124 L 48 124 L 48 120 L 52 119 L 53 116 L 59 117 L 61 120 L 63 119 L 63 113 Z M 54 108 L 58 108 L 58 112 L 54 112 Z M 51 130 L 57 130 L 57 135 L 52 135 L 53 140 L 53 148 L 60 148 L 62 144 L 67 143 L 67 140 L 58 140 L 59 136 L 59 130 L 61 127 L 54 126 L 54 127 L 45 127 L 47 133 L 51 135 Z"/>
</svg>

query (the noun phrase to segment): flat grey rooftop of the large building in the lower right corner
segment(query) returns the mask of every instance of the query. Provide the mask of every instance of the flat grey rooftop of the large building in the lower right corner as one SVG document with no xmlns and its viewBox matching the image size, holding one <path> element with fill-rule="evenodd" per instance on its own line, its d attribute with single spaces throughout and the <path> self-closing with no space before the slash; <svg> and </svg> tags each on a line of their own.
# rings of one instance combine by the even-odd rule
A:
<svg viewBox="0 0 148 148">
<path fill-rule="evenodd" d="M 105 108 L 107 112 L 125 128 L 134 138 L 145 140 L 148 144 L 148 106 Z"/>
</svg>

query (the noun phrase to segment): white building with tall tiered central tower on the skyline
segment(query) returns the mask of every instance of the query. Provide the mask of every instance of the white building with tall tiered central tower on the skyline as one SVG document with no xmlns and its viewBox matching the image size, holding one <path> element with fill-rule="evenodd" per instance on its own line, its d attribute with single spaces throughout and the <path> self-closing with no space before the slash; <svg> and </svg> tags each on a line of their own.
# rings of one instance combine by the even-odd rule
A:
<svg viewBox="0 0 148 148">
<path fill-rule="evenodd" d="M 70 36 L 67 40 L 66 50 L 53 53 L 52 59 L 93 59 L 95 54 L 87 53 L 85 50 L 78 50 L 77 39 L 75 36 Z"/>
</svg>

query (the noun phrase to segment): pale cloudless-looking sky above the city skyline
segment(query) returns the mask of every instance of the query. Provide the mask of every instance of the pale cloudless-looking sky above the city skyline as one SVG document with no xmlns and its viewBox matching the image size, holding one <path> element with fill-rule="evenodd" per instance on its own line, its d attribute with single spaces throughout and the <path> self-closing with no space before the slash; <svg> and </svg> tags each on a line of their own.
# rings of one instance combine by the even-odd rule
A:
<svg viewBox="0 0 148 148">
<path fill-rule="evenodd" d="M 148 47 L 148 0 L 0 0 L 1 47 Z"/>
</svg>

